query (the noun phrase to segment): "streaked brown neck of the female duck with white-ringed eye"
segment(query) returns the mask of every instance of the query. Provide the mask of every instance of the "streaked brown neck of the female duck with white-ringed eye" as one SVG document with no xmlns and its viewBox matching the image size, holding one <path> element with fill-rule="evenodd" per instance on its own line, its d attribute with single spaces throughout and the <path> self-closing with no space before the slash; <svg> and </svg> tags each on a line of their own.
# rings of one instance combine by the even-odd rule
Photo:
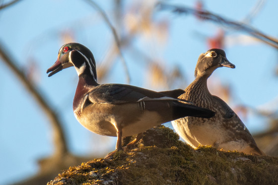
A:
<svg viewBox="0 0 278 185">
<path fill-rule="evenodd" d="M 211 96 L 207 81 L 207 76 L 197 76 L 195 80 L 185 89 L 184 98 L 188 101 L 192 101 L 198 106 L 202 106 L 203 101 Z"/>
</svg>

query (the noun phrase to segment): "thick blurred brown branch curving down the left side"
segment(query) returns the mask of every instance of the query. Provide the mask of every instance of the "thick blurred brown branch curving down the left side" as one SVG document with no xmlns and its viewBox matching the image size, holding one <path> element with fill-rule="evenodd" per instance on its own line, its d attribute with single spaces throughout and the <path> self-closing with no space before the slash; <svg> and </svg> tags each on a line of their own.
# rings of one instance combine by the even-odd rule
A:
<svg viewBox="0 0 278 185">
<path fill-rule="evenodd" d="M 8 52 L 7 47 L 3 45 L 0 41 L 0 59 L 12 70 L 12 72 L 17 76 L 17 78 L 21 81 L 21 83 L 25 86 L 25 88 L 30 92 L 30 94 L 34 97 L 37 103 L 41 106 L 42 110 L 48 117 L 50 123 L 53 128 L 53 141 L 54 141 L 54 156 L 63 156 L 68 153 L 68 145 L 66 142 L 66 138 L 62 128 L 62 122 L 59 116 L 55 113 L 55 111 L 51 108 L 48 101 L 45 100 L 42 93 L 31 83 L 23 70 L 18 67 L 16 62 L 11 57 L 11 53 Z"/>
</svg>

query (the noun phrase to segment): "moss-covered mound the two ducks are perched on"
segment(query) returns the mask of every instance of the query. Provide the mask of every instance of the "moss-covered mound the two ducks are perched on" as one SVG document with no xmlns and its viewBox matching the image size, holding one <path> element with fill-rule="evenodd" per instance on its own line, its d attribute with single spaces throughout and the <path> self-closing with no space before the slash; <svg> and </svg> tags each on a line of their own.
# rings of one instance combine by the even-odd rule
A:
<svg viewBox="0 0 278 185">
<path fill-rule="evenodd" d="M 151 135 L 149 135 L 151 133 Z M 278 158 L 193 149 L 173 130 L 148 130 L 138 148 L 94 159 L 59 174 L 48 185 L 277 185 Z"/>
</svg>

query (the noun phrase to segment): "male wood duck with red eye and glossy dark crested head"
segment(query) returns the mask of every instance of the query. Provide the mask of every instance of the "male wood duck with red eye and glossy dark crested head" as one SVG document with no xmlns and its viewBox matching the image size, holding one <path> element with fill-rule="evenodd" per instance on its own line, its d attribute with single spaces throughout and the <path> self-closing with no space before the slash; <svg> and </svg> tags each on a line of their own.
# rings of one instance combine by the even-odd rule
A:
<svg viewBox="0 0 278 185">
<path fill-rule="evenodd" d="M 62 46 L 57 61 L 47 70 L 48 76 L 70 66 L 79 77 L 73 99 L 75 118 L 94 133 L 117 136 L 116 150 L 122 150 L 122 136 L 185 116 L 214 116 L 210 110 L 172 98 L 184 93 L 181 89 L 155 92 L 125 84 L 98 84 L 93 54 L 81 44 Z"/>
</svg>

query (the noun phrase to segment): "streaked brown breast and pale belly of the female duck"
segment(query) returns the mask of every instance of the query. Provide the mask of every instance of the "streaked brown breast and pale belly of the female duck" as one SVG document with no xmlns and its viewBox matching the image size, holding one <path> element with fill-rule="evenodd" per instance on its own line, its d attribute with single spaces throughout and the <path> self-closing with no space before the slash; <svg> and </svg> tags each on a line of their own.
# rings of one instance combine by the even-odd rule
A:
<svg viewBox="0 0 278 185">
<path fill-rule="evenodd" d="M 237 139 L 254 141 L 251 134 L 245 133 L 246 127 L 239 118 L 225 118 L 227 113 L 223 107 L 226 104 L 222 105 L 222 102 L 209 93 L 207 80 L 195 80 L 179 98 L 215 112 L 215 116 L 209 119 L 186 117 L 172 122 L 181 137 L 193 147 L 198 147 L 199 144 L 217 147 L 221 143 Z M 236 114 L 231 115 L 237 117 Z M 247 129 L 246 131 L 249 132 Z"/>
</svg>

